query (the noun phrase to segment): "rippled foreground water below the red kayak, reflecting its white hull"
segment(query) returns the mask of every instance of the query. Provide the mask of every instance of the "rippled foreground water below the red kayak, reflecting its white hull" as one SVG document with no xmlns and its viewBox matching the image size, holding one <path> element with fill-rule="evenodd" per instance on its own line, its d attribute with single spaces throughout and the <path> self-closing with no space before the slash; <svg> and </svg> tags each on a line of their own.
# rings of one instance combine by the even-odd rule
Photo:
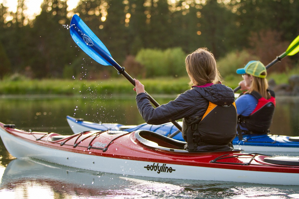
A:
<svg viewBox="0 0 299 199">
<path fill-rule="evenodd" d="M 262 198 L 266 196 L 290 198 L 295 197 L 298 191 L 298 186 L 263 186 L 122 176 L 29 159 L 12 160 L 7 165 L 0 184 L 0 198 L 24 199 Z"/>
</svg>

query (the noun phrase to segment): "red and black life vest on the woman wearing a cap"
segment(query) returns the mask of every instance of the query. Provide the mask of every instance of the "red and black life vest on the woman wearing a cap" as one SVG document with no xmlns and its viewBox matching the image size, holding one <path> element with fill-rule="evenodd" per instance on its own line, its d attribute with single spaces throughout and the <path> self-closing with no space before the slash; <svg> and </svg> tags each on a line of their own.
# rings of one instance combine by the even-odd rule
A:
<svg viewBox="0 0 299 199">
<path fill-rule="evenodd" d="M 269 132 L 275 110 L 275 94 L 272 90 L 267 91 L 271 95 L 271 98 L 268 100 L 263 98 L 257 91 L 246 93 L 257 98 L 258 102 L 254 111 L 249 116 L 239 115 L 238 117 L 239 124 L 248 129 L 248 132 L 241 130 L 245 134 L 267 134 Z"/>
</svg>

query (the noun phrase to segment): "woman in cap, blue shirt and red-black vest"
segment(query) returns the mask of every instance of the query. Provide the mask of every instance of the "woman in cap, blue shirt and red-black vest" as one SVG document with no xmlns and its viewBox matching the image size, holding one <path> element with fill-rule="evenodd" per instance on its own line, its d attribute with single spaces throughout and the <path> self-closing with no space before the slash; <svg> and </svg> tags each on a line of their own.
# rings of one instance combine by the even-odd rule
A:
<svg viewBox="0 0 299 199">
<path fill-rule="evenodd" d="M 266 67 L 260 61 L 249 61 L 244 68 L 237 69 L 237 74 L 243 77 L 239 83 L 241 90 L 247 90 L 236 99 L 239 139 L 244 134 L 269 133 L 275 94 L 268 88 Z"/>
</svg>

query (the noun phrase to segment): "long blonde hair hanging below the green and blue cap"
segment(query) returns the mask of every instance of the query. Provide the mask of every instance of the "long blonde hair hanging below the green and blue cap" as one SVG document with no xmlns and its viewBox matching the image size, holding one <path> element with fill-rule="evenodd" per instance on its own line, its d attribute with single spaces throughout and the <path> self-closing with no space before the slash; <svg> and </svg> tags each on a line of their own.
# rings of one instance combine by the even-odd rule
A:
<svg viewBox="0 0 299 199">
<path fill-rule="evenodd" d="M 270 99 L 271 95 L 267 91 L 268 87 L 269 85 L 266 78 L 252 76 L 252 83 L 248 92 L 251 93 L 252 91 L 257 91 L 263 98 Z"/>
</svg>

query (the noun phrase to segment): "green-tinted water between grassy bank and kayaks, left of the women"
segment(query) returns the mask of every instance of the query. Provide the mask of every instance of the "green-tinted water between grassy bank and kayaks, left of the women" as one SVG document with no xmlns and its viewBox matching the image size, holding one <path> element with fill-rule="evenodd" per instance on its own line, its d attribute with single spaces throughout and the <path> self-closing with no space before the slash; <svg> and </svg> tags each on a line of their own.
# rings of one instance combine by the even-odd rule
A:
<svg viewBox="0 0 299 199">
<path fill-rule="evenodd" d="M 140 124 L 135 97 L 103 98 L 28 98 L 0 99 L 0 121 L 16 124 L 17 128 L 34 131 L 71 133 L 66 115 L 83 117 L 93 122 Z"/>
</svg>

